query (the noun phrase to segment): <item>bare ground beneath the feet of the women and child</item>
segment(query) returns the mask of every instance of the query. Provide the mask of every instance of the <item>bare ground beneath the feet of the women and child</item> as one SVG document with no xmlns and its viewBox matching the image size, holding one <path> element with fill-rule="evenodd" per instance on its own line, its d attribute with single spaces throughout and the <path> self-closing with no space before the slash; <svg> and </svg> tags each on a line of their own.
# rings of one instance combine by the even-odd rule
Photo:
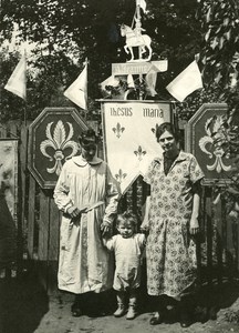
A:
<svg viewBox="0 0 239 333">
<path fill-rule="evenodd" d="M 115 319 L 112 313 L 115 303 L 113 293 L 106 297 L 108 313 L 95 317 L 84 314 L 71 316 L 71 294 L 56 292 L 49 296 L 37 276 L 25 274 L 21 279 L 6 281 L 0 279 L 0 333 L 239 333 L 239 284 L 225 282 L 219 287 L 201 289 L 195 323 L 181 329 L 175 309 L 169 310 L 168 321 L 150 326 L 150 301 L 144 295 L 141 299 L 138 316 L 133 321 L 125 317 Z M 201 313 L 208 310 L 207 321 L 200 323 Z M 198 316 L 198 317 L 197 317 Z"/>
</svg>

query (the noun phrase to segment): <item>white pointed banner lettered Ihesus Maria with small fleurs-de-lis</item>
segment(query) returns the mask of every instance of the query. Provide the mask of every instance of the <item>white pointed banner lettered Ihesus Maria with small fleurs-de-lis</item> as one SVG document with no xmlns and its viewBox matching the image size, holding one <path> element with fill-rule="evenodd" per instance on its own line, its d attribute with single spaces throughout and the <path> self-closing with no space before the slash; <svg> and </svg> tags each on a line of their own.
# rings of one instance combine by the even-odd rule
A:
<svg viewBox="0 0 239 333">
<path fill-rule="evenodd" d="M 103 102 L 105 159 L 122 192 L 162 154 L 155 128 L 170 122 L 169 102 Z"/>
</svg>

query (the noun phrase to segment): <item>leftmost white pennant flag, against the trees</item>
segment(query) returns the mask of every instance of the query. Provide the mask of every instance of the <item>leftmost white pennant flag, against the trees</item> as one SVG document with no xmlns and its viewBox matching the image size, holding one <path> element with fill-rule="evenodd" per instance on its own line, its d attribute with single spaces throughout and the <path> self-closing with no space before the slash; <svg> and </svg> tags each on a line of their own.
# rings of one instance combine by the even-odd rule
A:
<svg viewBox="0 0 239 333">
<path fill-rule="evenodd" d="M 17 94 L 21 99 L 25 100 L 27 98 L 27 60 L 25 54 L 22 56 L 21 60 L 17 64 L 14 71 L 9 78 L 4 89 Z"/>
</svg>

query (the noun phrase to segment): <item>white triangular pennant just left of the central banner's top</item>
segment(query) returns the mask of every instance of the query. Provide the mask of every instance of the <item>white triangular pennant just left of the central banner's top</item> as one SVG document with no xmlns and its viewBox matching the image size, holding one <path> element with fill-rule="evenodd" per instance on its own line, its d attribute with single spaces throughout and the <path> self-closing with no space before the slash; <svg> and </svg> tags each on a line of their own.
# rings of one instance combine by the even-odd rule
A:
<svg viewBox="0 0 239 333">
<path fill-rule="evenodd" d="M 64 91 L 64 95 L 80 108 L 87 110 L 87 63 L 77 79 Z"/>
</svg>

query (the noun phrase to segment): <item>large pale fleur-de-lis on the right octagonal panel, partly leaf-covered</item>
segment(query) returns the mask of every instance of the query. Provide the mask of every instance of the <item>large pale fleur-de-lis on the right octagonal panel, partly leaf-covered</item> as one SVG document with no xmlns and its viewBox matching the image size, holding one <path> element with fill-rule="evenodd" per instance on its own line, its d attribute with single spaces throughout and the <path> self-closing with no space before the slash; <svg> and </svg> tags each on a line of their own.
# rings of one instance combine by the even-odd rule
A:
<svg viewBox="0 0 239 333">
<path fill-rule="evenodd" d="M 205 152 L 209 157 L 209 159 L 212 159 L 215 157 L 215 162 L 211 165 L 207 164 L 207 169 L 209 171 L 216 170 L 217 173 L 231 170 L 231 165 L 225 165 L 222 161 L 222 158 L 229 158 L 228 155 L 225 155 L 222 145 L 224 133 L 220 130 L 222 123 L 222 115 L 209 118 L 205 123 L 205 132 L 207 133 L 207 135 L 202 137 L 199 140 L 200 150 Z"/>
</svg>

